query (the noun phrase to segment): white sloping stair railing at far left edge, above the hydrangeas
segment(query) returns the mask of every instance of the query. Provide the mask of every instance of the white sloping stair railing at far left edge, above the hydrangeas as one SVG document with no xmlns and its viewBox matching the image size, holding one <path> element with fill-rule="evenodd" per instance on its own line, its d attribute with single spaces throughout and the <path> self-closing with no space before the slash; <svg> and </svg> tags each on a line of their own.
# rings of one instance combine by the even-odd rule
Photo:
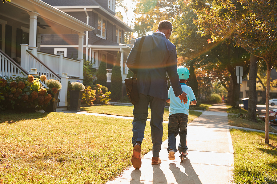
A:
<svg viewBox="0 0 277 184">
<path fill-rule="evenodd" d="M 11 59 L 6 53 L 0 50 L 0 75 L 3 77 L 25 77 L 28 71 L 24 70 L 18 63 Z"/>
</svg>

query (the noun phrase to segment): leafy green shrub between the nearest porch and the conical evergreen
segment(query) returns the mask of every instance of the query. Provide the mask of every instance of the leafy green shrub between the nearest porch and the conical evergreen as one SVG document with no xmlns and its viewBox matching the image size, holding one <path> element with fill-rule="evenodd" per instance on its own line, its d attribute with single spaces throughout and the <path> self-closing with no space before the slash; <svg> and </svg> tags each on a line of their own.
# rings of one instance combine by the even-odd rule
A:
<svg viewBox="0 0 277 184">
<path fill-rule="evenodd" d="M 83 84 L 84 86 L 92 86 L 95 85 L 96 78 L 94 74 L 96 73 L 96 69 L 92 67 L 92 63 L 90 61 L 84 61 L 84 70 L 83 70 Z"/>
</svg>

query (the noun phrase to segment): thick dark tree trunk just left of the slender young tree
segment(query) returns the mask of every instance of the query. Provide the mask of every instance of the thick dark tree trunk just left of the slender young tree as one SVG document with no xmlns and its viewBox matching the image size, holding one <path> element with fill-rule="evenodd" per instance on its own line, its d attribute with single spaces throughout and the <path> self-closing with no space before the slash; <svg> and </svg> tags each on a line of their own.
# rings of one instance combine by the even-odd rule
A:
<svg viewBox="0 0 277 184">
<path fill-rule="evenodd" d="M 250 56 L 250 71 L 249 71 L 249 91 L 248 91 L 248 114 L 247 119 L 250 121 L 257 121 L 257 89 L 256 89 L 256 77 L 257 77 L 257 61 L 258 57 L 251 54 Z"/>
</svg>

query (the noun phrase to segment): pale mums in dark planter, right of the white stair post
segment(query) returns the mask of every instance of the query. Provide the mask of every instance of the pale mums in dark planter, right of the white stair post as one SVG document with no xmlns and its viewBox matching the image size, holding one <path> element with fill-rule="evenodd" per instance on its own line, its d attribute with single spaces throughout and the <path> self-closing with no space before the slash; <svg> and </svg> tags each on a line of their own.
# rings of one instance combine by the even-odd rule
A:
<svg viewBox="0 0 277 184">
<path fill-rule="evenodd" d="M 70 111 L 80 111 L 82 95 L 85 86 L 81 82 L 72 82 L 72 90 L 69 90 L 70 95 Z"/>
</svg>

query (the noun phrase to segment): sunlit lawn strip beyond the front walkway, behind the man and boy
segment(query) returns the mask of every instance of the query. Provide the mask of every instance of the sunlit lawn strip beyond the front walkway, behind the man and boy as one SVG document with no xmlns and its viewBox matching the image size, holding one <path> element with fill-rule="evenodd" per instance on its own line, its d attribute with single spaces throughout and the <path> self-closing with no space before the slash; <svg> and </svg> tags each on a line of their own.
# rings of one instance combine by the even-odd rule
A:
<svg viewBox="0 0 277 184">
<path fill-rule="evenodd" d="M 110 115 L 117 115 L 117 116 L 127 116 L 127 117 L 134 117 L 133 116 L 133 109 L 134 106 L 115 106 L 115 105 L 96 105 L 90 107 L 82 107 L 82 111 L 87 111 L 88 113 L 99 113 L 99 114 L 110 114 Z M 190 123 L 196 117 L 200 116 L 200 112 L 190 110 L 188 116 L 188 122 Z M 169 109 L 164 109 L 163 120 L 168 121 L 169 117 Z M 151 109 L 148 108 L 148 119 L 151 118 Z"/>
</svg>

